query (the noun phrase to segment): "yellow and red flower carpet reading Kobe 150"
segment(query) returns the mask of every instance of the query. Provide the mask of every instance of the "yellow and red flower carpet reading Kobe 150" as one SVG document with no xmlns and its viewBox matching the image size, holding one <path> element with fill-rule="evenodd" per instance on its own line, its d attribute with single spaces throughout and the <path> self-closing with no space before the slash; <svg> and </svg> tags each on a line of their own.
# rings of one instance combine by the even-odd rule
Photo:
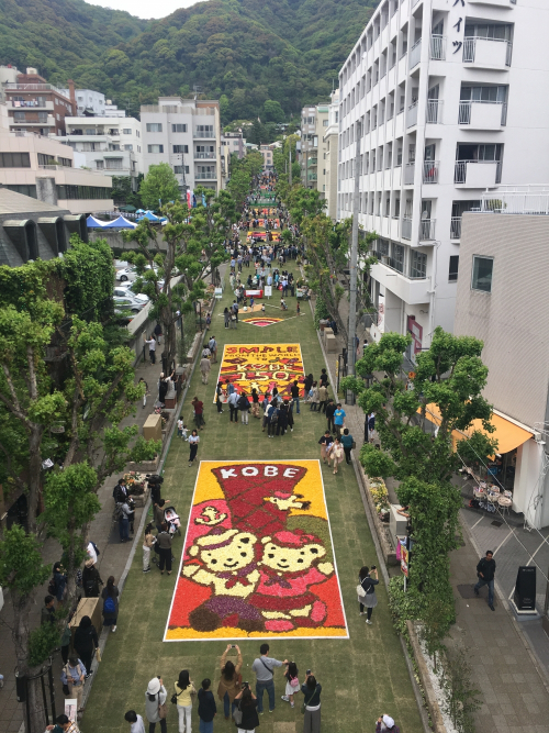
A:
<svg viewBox="0 0 549 733">
<path fill-rule="evenodd" d="M 265 320 L 265 319 L 258 319 Z M 281 319 L 283 320 L 283 319 Z M 260 401 L 266 392 L 277 387 L 282 398 L 291 397 L 291 386 L 298 379 L 300 393 L 304 397 L 303 358 L 299 344 L 226 344 L 221 359 L 219 381 L 226 390 L 226 380 L 238 391 L 245 389 L 251 395 L 257 389 Z M 215 402 L 215 393 L 213 401 Z M 250 397 L 251 399 L 251 397 Z"/>
</svg>

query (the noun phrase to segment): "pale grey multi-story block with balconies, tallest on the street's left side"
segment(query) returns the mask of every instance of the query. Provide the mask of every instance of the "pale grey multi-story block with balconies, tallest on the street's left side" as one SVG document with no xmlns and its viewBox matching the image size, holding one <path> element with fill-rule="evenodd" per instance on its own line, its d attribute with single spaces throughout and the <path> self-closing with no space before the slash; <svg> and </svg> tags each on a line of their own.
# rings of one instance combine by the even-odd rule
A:
<svg viewBox="0 0 549 733">
<path fill-rule="evenodd" d="M 221 124 L 217 101 L 160 97 L 141 108 L 144 171 L 168 163 L 181 191 L 197 186 L 220 191 Z"/>
</svg>

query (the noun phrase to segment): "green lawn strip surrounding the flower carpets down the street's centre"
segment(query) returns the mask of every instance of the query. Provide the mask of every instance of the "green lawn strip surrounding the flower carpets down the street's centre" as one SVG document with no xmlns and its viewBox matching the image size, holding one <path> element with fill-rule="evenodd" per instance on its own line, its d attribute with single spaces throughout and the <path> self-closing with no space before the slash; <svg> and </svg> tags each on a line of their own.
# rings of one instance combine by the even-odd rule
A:
<svg viewBox="0 0 549 733">
<path fill-rule="evenodd" d="M 290 268 L 298 275 L 295 263 Z M 248 273 L 244 268 L 243 281 Z M 270 300 L 280 302 L 280 292 Z M 225 343 L 300 343 L 305 374 L 317 377 L 324 366 L 322 351 L 309 304 L 302 304 L 304 315 L 295 315 L 295 299 L 287 299 L 289 311 L 267 309 L 269 314 L 284 318 L 284 322 L 266 327 L 239 323 L 236 330 L 225 330 L 220 315 L 225 306 L 233 301 L 228 287 L 213 316 L 212 329 L 217 340 L 219 363 L 212 365 L 208 386 L 201 384 L 200 371 L 195 370 L 182 413 L 190 422 L 190 401 L 197 395 L 205 406 L 206 427 L 200 432 L 199 459 L 292 459 L 318 458 L 317 441 L 323 434 L 324 417 L 310 412 L 309 404 L 302 402 L 301 415 L 295 417 L 293 433 L 267 438 L 261 432 L 259 420 L 249 418 L 249 425 L 229 423 L 228 410 L 217 414 L 213 404 L 223 345 Z M 269 301 L 266 301 L 269 302 Z M 220 308 L 221 306 L 221 308 Z M 246 318 L 240 310 L 239 318 Z M 360 436 L 359 436 L 360 437 Z M 225 648 L 224 642 L 170 642 L 163 636 L 177 579 L 184 529 L 189 514 L 197 467 L 188 467 L 189 447 L 180 438 L 173 437 L 165 466 L 163 496 L 170 499 L 182 519 L 182 536 L 173 543 L 173 555 L 178 558 L 175 573 L 167 577 L 158 570 L 147 575 L 142 573 L 142 552 L 137 547 L 132 570 L 127 577 L 120 604 L 117 630 L 110 634 L 103 660 L 96 673 L 90 700 L 82 721 L 83 733 L 127 733 L 123 717 L 134 709 L 144 714 L 145 689 L 148 680 L 161 675 L 168 689 L 168 698 L 173 691 L 173 681 L 180 669 L 189 669 L 197 682 L 204 677 L 212 679 L 214 692 L 217 689 L 219 659 Z M 329 512 L 332 535 L 336 554 L 337 570 L 343 591 L 349 640 L 280 640 L 270 643 L 271 653 L 279 659 L 292 658 L 298 663 L 300 679 L 307 668 L 312 668 L 323 685 L 323 728 L 325 731 L 341 733 L 372 731 L 378 714 L 389 712 L 394 717 L 402 733 L 421 733 L 422 724 L 416 708 L 402 648 L 393 631 L 388 608 L 386 590 L 379 586 L 379 604 L 373 612 L 373 625 L 367 626 L 358 615 L 356 598 L 357 573 L 362 564 L 377 564 L 376 551 L 368 522 L 363 512 L 355 471 L 350 466 L 341 466 L 339 474 L 322 465 L 324 489 Z M 258 653 L 260 642 L 237 641 L 244 655 L 243 677 L 255 682 L 249 666 Z M 300 715 L 301 700 L 292 710 L 282 700 L 284 681 L 282 671 L 277 670 L 277 709 L 270 715 L 260 717 L 260 730 L 273 731 L 273 722 L 295 721 L 296 730 L 302 730 Z M 267 708 L 267 698 L 265 699 Z M 233 731 L 234 724 L 226 722 L 223 707 L 217 701 L 215 730 Z M 169 706 L 168 730 L 177 730 L 177 713 Z M 198 730 L 198 714 L 193 710 L 193 726 Z"/>
</svg>

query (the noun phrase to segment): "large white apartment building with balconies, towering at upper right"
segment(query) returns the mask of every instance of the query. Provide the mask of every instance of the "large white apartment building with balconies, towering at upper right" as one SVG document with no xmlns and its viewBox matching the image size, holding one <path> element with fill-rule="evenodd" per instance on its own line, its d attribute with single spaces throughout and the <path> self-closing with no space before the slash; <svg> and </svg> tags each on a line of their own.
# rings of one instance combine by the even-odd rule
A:
<svg viewBox="0 0 549 733">
<path fill-rule="evenodd" d="M 340 75 L 339 218 L 377 232 L 372 334 L 453 329 L 461 215 L 549 167 L 547 0 L 384 0 Z"/>
</svg>

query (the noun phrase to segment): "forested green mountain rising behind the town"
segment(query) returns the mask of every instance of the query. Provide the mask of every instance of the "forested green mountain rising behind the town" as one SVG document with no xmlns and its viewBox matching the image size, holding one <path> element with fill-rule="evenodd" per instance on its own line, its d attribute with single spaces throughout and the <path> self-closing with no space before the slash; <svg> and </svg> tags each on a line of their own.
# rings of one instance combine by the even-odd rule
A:
<svg viewBox="0 0 549 733">
<path fill-rule="evenodd" d="M 159 21 L 81 0 L 0 0 L 0 63 L 138 111 L 195 85 L 224 122 L 327 100 L 378 0 L 210 0 Z"/>
</svg>

